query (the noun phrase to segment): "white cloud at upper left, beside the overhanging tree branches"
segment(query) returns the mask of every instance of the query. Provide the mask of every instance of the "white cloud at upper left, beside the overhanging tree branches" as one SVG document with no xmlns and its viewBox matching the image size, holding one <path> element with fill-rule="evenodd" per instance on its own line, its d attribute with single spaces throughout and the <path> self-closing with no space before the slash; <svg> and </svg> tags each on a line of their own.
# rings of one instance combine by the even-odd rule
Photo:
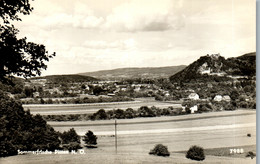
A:
<svg viewBox="0 0 260 164">
<path fill-rule="evenodd" d="M 95 16 L 94 11 L 82 1 L 39 1 L 33 3 L 34 10 L 30 16 L 22 16 L 23 24 L 55 30 L 64 27 L 94 29 L 104 22 L 103 17 Z"/>
</svg>

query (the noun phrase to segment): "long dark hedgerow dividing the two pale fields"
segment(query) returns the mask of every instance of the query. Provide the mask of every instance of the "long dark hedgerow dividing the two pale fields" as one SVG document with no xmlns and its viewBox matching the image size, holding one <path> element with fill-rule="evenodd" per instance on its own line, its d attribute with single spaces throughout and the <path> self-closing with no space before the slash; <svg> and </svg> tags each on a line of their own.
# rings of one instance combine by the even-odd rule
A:
<svg viewBox="0 0 260 164">
<path fill-rule="evenodd" d="M 190 107 L 198 105 L 198 113 L 218 111 L 218 110 L 235 110 L 236 102 L 209 102 L 209 101 L 184 101 L 182 106 L 186 106 L 185 111 L 182 108 L 157 108 L 155 106 L 141 106 L 137 110 L 128 108 L 126 110 L 114 109 L 105 111 L 100 109 L 93 114 L 69 114 L 69 115 L 46 115 L 43 116 L 46 121 L 82 121 L 82 120 L 109 120 L 109 119 L 131 119 L 136 117 L 159 117 L 159 116 L 176 116 L 190 113 Z"/>
</svg>

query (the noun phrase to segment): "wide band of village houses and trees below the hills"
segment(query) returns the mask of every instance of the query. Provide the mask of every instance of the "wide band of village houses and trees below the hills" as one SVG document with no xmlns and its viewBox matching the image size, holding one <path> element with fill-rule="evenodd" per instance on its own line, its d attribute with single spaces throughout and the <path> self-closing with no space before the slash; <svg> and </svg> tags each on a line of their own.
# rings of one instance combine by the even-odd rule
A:
<svg viewBox="0 0 260 164">
<path fill-rule="evenodd" d="M 150 80 L 96 80 L 54 82 L 46 78 L 24 81 L 23 91 L 9 94 L 20 98 L 23 104 L 91 104 L 147 101 L 174 102 L 184 113 L 255 108 L 255 95 L 243 80 L 225 82 L 172 84 L 168 79 Z M 221 86 L 221 87 L 219 87 Z M 224 89 L 227 88 L 227 89 Z M 246 88 L 244 92 L 241 92 Z M 219 91 L 218 91 L 219 90 Z M 247 91 L 247 92 L 246 92 Z M 238 94 L 240 92 L 240 94 Z M 244 93 L 244 94 L 241 94 Z M 145 105 L 145 104 L 143 104 Z M 140 106 L 141 107 L 141 106 Z"/>
</svg>

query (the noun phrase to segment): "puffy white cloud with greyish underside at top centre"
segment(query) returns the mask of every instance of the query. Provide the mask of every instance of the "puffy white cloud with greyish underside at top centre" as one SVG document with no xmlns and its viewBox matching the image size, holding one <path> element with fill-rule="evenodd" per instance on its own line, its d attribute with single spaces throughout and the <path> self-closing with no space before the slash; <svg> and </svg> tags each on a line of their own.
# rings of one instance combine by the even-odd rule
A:
<svg viewBox="0 0 260 164">
<path fill-rule="evenodd" d="M 176 5 L 176 6 L 175 6 Z M 165 0 L 133 0 L 116 7 L 106 17 L 105 28 L 116 31 L 165 31 L 184 26 L 178 12 L 181 4 Z"/>
</svg>

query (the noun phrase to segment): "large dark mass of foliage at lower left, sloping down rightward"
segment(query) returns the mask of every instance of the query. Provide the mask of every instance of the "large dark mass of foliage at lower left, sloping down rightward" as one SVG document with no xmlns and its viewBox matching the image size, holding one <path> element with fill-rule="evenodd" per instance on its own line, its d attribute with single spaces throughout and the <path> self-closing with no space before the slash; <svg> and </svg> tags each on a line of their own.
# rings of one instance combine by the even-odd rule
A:
<svg viewBox="0 0 260 164">
<path fill-rule="evenodd" d="M 53 151 L 60 148 L 58 132 L 40 116 L 24 111 L 22 104 L 0 92 L 0 157 L 17 150 Z"/>
</svg>

